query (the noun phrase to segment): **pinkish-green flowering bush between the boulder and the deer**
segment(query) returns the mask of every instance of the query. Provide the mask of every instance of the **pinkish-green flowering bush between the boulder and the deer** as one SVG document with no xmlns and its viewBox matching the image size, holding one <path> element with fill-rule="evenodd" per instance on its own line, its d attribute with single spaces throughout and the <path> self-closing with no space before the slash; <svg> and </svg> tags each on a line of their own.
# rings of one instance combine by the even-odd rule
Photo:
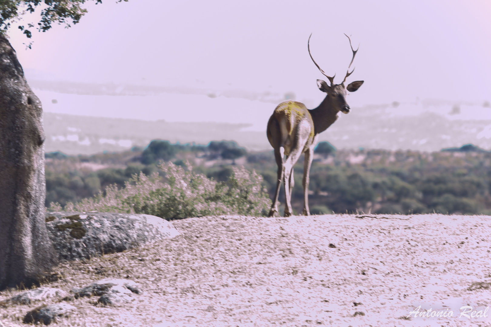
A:
<svg viewBox="0 0 491 327">
<path fill-rule="evenodd" d="M 116 185 L 106 188 L 94 198 L 79 203 L 68 202 L 64 208 L 51 203 L 50 211 L 124 212 L 145 213 L 162 218 L 186 218 L 210 215 L 261 216 L 271 206 L 266 188 L 261 186 L 262 176 L 244 167 L 233 167 L 226 182 L 216 182 L 203 174 L 192 172 L 173 163 L 162 163 L 167 182 L 162 182 L 157 173 L 148 177 L 143 173 L 133 175 L 118 190 Z"/>
</svg>

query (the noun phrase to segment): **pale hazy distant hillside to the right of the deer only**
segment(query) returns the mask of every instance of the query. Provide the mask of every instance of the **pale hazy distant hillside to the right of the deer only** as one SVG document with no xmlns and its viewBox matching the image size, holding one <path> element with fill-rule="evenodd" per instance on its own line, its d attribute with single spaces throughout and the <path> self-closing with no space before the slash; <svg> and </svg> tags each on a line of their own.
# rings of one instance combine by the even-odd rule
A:
<svg viewBox="0 0 491 327">
<path fill-rule="evenodd" d="M 491 149 L 491 120 L 449 119 L 435 112 L 395 115 L 389 105 L 354 108 L 325 132 L 319 141 L 337 149 L 410 149 L 439 151 L 474 144 Z"/>
</svg>

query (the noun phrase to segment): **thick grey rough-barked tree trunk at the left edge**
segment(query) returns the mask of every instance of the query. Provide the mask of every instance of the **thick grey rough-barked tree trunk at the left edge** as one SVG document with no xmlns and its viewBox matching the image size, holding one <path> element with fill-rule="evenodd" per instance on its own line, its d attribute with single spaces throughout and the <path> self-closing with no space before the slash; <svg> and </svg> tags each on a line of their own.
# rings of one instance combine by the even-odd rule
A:
<svg viewBox="0 0 491 327">
<path fill-rule="evenodd" d="M 56 264 L 44 217 L 42 114 L 0 34 L 0 290 L 37 283 Z"/>
</svg>

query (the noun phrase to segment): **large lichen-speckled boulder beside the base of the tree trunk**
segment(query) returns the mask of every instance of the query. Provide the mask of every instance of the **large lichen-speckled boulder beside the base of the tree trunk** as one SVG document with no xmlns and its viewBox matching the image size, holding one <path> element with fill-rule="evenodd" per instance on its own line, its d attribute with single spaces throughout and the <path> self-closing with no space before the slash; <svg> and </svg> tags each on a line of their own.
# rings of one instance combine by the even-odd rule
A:
<svg viewBox="0 0 491 327">
<path fill-rule="evenodd" d="M 63 260 L 90 259 L 179 235 L 171 222 L 145 214 L 51 212 L 45 221 Z"/>
</svg>

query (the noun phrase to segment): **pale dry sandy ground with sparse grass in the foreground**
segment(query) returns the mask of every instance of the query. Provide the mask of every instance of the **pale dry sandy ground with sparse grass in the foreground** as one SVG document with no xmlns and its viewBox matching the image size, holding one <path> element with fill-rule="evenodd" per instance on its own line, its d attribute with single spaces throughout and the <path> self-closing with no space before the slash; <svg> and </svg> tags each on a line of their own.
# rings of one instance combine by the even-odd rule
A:
<svg viewBox="0 0 491 327">
<path fill-rule="evenodd" d="M 486 318 L 459 319 L 464 305 L 491 307 L 489 216 L 227 216 L 173 224 L 182 233 L 174 239 L 57 267 L 64 278 L 52 287 L 127 277 L 145 293 L 119 308 L 74 300 L 77 312 L 54 325 L 491 326 L 491 309 Z M 485 283 L 469 290 L 476 282 Z M 17 293 L 1 292 L 0 301 Z M 419 305 L 453 317 L 405 319 Z M 3 325 L 23 325 L 35 306 L 0 308 Z"/>
</svg>

